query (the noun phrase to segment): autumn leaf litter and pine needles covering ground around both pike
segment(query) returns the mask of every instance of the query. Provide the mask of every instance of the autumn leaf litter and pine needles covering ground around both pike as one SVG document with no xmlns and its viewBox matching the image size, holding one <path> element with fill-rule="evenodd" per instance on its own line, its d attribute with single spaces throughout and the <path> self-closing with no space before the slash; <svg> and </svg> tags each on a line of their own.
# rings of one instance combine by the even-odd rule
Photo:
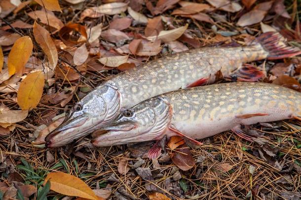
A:
<svg viewBox="0 0 301 200">
<path fill-rule="evenodd" d="M 230 132 L 203 139 L 201 147 L 172 137 L 152 160 L 147 159 L 152 142 L 95 148 L 87 136 L 66 147 L 44 148 L 44 137 L 79 98 L 143 62 L 199 46 L 244 44 L 268 31 L 301 46 L 298 2 L 0 1 L 0 195 L 300 198 L 301 124 L 296 120 L 255 124 L 249 130 L 258 136 L 254 143 Z M 301 90 L 300 57 L 252 65 L 264 70 L 260 81 Z"/>
</svg>

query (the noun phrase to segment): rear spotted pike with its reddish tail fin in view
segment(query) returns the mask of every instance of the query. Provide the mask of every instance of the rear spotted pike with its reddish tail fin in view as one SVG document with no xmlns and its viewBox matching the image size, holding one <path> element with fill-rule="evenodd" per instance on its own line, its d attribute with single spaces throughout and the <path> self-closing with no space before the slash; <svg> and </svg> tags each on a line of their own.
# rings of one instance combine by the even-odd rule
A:
<svg viewBox="0 0 301 200">
<path fill-rule="evenodd" d="M 107 126 L 120 111 L 156 95 L 212 82 L 218 72 L 227 77 L 243 63 L 298 54 L 299 48 L 287 46 L 278 33 L 268 32 L 248 46 L 192 49 L 148 62 L 106 80 L 78 101 L 45 138 L 46 146 L 63 146 Z M 254 76 L 250 72 L 242 71 L 238 78 Z"/>
</svg>

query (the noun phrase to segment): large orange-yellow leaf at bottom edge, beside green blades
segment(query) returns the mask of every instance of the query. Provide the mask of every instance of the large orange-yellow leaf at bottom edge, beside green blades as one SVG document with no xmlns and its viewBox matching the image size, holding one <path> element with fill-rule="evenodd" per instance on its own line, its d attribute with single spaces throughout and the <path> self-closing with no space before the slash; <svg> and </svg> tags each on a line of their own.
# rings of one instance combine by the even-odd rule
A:
<svg viewBox="0 0 301 200">
<path fill-rule="evenodd" d="M 98 200 L 89 186 L 79 178 L 63 172 L 52 172 L 47 175 L 44 184 L 50 179 L 50 189 L 67 196 Z"/>
</svg>

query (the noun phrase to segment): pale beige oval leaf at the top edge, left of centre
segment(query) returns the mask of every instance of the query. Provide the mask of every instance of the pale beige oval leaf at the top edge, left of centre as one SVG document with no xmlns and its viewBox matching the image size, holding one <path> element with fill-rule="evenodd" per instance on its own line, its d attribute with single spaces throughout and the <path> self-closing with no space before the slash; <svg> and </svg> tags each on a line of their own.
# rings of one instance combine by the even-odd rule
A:
<svg viewBox="0 0 301 200">
<path fill-rule="evenodd" d="M 97 12 L 114 15 L 119 14 L 121 12 L 125 12 L 127 9 L 127 3 L 123 2 L 113 2 L 113 3 L 105 3 L 97 8 Z"/>
</svg>

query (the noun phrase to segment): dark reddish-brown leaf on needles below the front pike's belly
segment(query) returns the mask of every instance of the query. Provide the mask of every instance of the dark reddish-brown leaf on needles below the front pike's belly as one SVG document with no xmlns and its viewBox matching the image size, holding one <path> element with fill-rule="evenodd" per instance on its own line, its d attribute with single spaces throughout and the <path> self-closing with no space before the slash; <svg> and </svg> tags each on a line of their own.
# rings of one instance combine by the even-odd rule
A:
<svg viewBox="0 0 301 200">
<path fill-rule="evenodd" d="M 170 154 L 170 158 L 173 161 L 173 163 L 183 171 L 191 169 L 195 164 L 195 161 L 192 158 L 187 145 L 185 144 L 175 149 L 173 153 Z"/>
</svg>

